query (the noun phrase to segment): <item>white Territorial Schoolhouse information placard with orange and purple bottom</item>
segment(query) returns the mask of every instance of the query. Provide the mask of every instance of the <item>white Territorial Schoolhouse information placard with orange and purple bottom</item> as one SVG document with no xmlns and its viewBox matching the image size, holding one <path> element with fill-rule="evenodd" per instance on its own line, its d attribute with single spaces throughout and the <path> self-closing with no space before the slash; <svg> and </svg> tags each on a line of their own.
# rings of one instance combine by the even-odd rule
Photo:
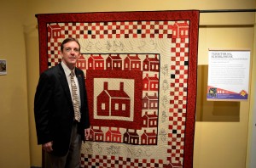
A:
<svg viewBox="0 0 256 168">
<path fill-rule="evenodd" d="M 250 51 L 209 50 L 207 100 L 247 100 Z"/>
</svg>

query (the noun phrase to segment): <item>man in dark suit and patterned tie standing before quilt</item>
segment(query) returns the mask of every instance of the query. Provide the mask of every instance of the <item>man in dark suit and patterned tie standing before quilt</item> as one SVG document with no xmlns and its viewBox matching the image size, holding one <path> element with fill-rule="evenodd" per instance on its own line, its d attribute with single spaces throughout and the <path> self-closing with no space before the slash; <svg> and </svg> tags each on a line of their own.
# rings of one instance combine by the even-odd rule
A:
<svg viewBox="0 0 256 168">
<path fill-rule="evenodd" d="M 34 114 L 47 168 L 79 168 L 82 140 L 90 136 L 84 72 L 75 67 L 79 55 L 78 40 L 65 39 L 61 63 L 45 70 L 38 81 Z"/>
</svg>

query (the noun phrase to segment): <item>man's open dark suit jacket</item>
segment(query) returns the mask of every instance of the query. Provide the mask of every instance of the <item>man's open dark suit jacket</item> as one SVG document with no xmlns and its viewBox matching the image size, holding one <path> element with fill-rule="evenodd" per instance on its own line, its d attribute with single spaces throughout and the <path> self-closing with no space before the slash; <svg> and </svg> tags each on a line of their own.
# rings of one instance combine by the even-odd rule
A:
<svg viewBox="0 0 256 168">
<path fill-rule="evenodd" d="M 84 140 L 84 128 L 90 127 L 84 72 L 75 68 L 81 98 L 79 134 Z M 73 127 L 74 110 L 67 77 L 61 64 L 45 70 L 38 81 L 34 99 L 34 114 L 38 144 L 53 141 L 57 156 L 67 154 Z"/>
</svg>

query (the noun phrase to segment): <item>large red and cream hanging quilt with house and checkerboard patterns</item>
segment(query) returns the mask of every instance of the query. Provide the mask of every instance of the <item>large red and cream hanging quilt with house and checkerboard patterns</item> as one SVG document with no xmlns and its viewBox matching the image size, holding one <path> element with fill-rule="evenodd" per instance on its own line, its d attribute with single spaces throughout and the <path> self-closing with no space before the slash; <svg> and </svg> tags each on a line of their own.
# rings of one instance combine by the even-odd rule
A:
<svg viewBox="0 0 256 168">
<path fill-rule="evenodd" d="M 193 167 L 199 11 L 37 14 L 40 72 L 78 38 L 90 110 L 81 167 Z"/>
</svg>

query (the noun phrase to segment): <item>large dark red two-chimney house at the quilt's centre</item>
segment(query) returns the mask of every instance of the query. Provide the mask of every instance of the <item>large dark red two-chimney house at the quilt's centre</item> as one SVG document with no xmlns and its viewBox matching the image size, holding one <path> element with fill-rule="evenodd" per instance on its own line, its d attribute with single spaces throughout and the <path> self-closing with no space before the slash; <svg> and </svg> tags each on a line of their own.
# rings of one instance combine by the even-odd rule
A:
<svg viewBox="0 0 256 168">
<path fill-rule="evenodd" d="M 97 96 L 97 115 L 130 117 L 131 98 L 124 91 L 124 82 L 120 82 L 119 90 L 109 90 L 108 82 L 104 82 L 103 91 Z"/>
</svg>

